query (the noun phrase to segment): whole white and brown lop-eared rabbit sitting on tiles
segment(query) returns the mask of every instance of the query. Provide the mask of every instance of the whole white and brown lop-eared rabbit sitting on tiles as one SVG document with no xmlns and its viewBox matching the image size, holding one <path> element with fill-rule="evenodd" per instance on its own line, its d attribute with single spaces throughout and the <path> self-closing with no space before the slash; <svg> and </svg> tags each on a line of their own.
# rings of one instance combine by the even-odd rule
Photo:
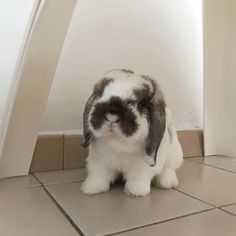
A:
<svg viewBox="0 0 236 236">
<path fill-rule="evenodd" d="M 85 105 L 83 122 L 83 146 L 89 146 L 84 194 L 108 191 L 120 174 L 132 196 L 145 196 L 151 184 L 178 185 L 183 152 L 156 80 L 125 69 L 105 73 Z"/>
</svg>

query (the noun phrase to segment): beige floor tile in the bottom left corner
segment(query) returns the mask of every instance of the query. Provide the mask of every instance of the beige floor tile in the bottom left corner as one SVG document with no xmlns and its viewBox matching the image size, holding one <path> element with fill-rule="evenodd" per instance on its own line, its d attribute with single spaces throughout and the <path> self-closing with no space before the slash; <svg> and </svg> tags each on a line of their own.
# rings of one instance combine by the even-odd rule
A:
<svg viewBox="0 0 236 236">
<path fill-rule="evenodd" d="M 41 187 L 0 188 L 0 235 L 76 236 Z"/>
</svg>

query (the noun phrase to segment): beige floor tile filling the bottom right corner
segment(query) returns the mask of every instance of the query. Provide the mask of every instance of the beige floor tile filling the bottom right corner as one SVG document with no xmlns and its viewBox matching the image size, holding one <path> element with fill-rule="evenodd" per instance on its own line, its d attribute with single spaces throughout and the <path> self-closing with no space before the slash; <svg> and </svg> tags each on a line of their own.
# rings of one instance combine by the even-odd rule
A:
<svg viewBox="0 0 236 236">
<path fill-rule="evenodd" d="M 118 235 L 234 236 L 236 235 L 236 217 L 220 210 L 210 210 Z"/>
</svg>

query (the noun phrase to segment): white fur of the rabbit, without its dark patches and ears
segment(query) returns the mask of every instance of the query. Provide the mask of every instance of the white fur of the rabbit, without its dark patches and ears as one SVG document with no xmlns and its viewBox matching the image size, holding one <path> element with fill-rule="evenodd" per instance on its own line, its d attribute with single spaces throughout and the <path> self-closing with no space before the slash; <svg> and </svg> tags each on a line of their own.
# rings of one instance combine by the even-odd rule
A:
<svg viewBox="0 0 236 236">
<path fill-rule="evenodd" d="M 111 77 L 116 78 L 116 76 L 119 77 L 119 82 L 109 84 L 100 101 L 107 100 L 114 94 L 121 98 L 130 98 L 133 96 L 133 88 L 143 83 L 139 78 L 127 82 L 127 77 L 135 76 L 133 74 L 117 72 Z M 89 146 L 88 177 L 82 185 L 83 193 L 95 194 L 109 190 L 110 184 L 115 181 L 119 173 L 122 173 L 126 181 L 124 191 L 133 196 L 148 194 L 152 181 L 155 186 L 161 188 L 169 189 L 178 185 L 175 170 L 182 163 L 183 153 L 169 109 L 166 108 L 166 130 L 158 149 L 156 165 L 153 167 L 147 164 L 150 157 L 146 156 L 145 152 L 148 124 L 138 112 L 136 115 L 139 123 L 138 132 L 128 138 L 122 134 L 118 126 L 114 126 L 112 132 L 109 131 L 111 125 L 109 122 L 99 131 L 90 125 L 97 138 Z"/>
</svg>

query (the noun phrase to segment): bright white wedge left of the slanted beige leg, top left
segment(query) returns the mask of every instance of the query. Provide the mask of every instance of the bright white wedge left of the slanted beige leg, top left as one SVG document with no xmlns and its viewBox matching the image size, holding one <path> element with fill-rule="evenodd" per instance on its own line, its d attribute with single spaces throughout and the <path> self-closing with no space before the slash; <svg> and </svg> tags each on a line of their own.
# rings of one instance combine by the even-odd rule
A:
<svg viewBox="0 0 236 236">
<path fill-rule="evenodd" d="M 15 68 L 27 35 L 34 0 L 0 2 L 0 146 Z M 1 148 L 0 148 L 1 149 Z"/>
</svg>

